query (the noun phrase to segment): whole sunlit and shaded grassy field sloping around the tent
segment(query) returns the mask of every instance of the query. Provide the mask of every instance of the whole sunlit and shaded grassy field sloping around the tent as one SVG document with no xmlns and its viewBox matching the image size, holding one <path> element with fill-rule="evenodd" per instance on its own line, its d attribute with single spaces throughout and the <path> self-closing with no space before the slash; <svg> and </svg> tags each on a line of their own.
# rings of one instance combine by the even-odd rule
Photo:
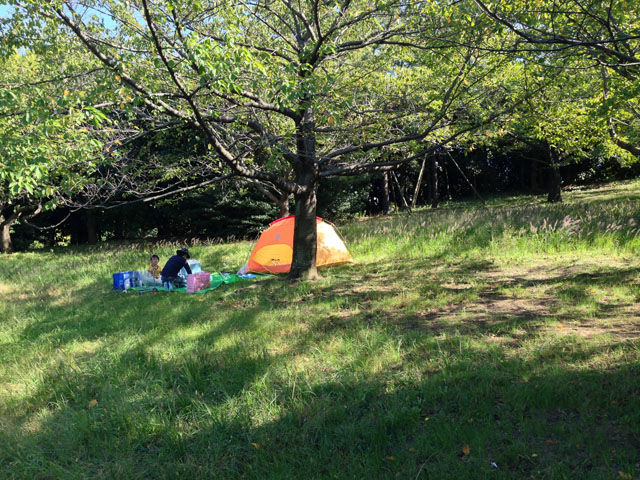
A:
<svg viewBox="0 0 640 480">
<path fill-rule="evenodd" d="M 361 219 L 353 265 L 206 295 L 114 292 L 148 245 L 0 257 L 0 478 L 640 478 L 639 207 Z"/>
</svg>

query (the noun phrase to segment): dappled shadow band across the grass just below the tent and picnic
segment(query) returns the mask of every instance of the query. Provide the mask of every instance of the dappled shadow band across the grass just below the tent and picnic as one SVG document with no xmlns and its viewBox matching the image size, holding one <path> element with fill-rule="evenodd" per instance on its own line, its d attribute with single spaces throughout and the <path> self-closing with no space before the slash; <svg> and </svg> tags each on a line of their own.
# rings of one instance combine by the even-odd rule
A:
<svg viewBox="0 0 640 480">
<path fill-rule="evenodd" d="M 606 299 L 595 302 L 591 292 L 594 288 L 631 284 L 640 276 L 638 267 L 611 267 L 594 272 L 555 269 L 544 277 L 537 276 L 534 269 L 509 276 L 503 272 L 503 277 L 497 277 L 492 262 L 447 258 L 396 259 L 360 267 L 358 272 L 354 267 L 342 267 L 331 273 L 330 281 L 300 288 L 278 278 L 221 287 L 205 296 L 136 296 L 104 292 L 104 285 L 94 282 L 66 297 L 43 291 L 38 297 L 26 298 L 10 293 L 7 300 L 20 302 L 24 316 L 34 318 L 26 322 L 23 341 L 46 342 L 54 347 L 107 338 L 117 342 L 131 335 L 160 343 L 175 329 L 206 322 L 215 322 L 210 337 L 219 337 L 234 330 L 250 330 L 255 326 L 254 318 L 265 312 L 294 307 L 303 316 L 308 312 L 309 318 L 319 318 L 313 328 L 320 335 L 349 324 L 385 323 L 430 334 L 451 331 L 500 335 L 522 327 L 526 330 L 521 335 L 524 338 L 535 336 L 545 321 L 571 320 L 580 313 L 572 308 L 583 304 L 593 310 L 589 319 L 580 318 L 583 322 L 623 317 L 628 313 L 623 310 L 633 305 Z M 525 293 L 505 293 L 514 288 Z M 529 290 L 533 293 L 527 293 Z M 324 317 L 315 316 L 327 302 L 333 302 L 335 308 Z M 557 311 L 559 305 L 568 307 Z M 217 309 L 221 315 L 216 315 Z M 624 333 L 627 338 L 640 334 L 638 324 L 627 322 L 624 332 L 616 330 L 618 327 L 622 328 L 609 326 L 609 333 Z"/>
</svg>

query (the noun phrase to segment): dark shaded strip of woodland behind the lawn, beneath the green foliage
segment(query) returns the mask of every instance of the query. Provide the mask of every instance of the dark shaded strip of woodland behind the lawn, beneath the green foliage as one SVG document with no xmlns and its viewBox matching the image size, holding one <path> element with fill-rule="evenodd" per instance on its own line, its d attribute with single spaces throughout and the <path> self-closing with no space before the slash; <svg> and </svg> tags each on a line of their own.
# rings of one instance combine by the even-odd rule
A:
<svg viewBox="0 0 640 480">
<path fill-rule="evenodd" d="M 551 172 L 544 162 L 532 160 L 536 152 L 497 154 L 478 151 L 458 156 L 464 175 L 483 198 L 497 194 L 548 193 Z M 464 176 L 448 157 L 437 165 L 439 202 L 476 199 Z M 392 211 L 409 214 L 420 165 L 417 162 L 395 171 L 398 184 L 384 174 L 361 178 L 326 180 L 318 200 L 318 215 L 333 222 L 362 215 L 380 215 Z M 621 166 L 616 159 L 585 159 L 559 168 L 563 183 L 572 186 L 597 185 L 607 181 L 634 178 L 640 165 Z M 417 207 L 433 206 L 429 182 L 425 180 L 416 201 Z M 388 192 L 386 202 L 384 190 Z M 405 201 L 402 200 L 404 193 Z M 407 202 L 407 203 L 405 203 Z M 56 224 L 69 214 L 59 208 L 39 216 L 33 223 Z M 96 243 L 107 240 L 189 240 L 255 239 L 265 226 L 278 218 L 277 205 L 259 190 L 228 181 L 179 198 L 153 203 L 133 203 L 111 209 L 82 209 L 71 213 L 68 221 L 55 229 L 38 230 L 28 224 L 14 227 L 14 244 L 23 250 L 29 246 Z"/>
</svg>

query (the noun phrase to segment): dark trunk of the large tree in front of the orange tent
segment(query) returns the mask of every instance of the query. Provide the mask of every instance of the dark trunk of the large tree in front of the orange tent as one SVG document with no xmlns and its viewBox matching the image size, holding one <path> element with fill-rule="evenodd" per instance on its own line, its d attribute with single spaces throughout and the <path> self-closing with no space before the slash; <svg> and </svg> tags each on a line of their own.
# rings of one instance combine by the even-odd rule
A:
<svg viewBox="0 0 640 480">
<path fill-rule="evenodd" d="M 294 166 L 296 183 L 302 189 L 294 194 L 296 219 L 293 230 L 293 259 L 290 280 L 315 280 L 318 278 L 316 251 L 318 229 L 316 206 L 318 166 L 316 163 L 316 137 L 313 110 L 308 108 L 303 120 L 296 127 L 297 163 Z"/>
</svg>

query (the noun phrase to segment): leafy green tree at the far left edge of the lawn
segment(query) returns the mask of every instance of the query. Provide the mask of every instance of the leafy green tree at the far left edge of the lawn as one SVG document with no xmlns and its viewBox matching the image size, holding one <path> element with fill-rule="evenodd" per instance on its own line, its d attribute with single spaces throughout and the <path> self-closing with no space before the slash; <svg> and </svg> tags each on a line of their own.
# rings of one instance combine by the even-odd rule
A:
<svg viewBox="0 0 640 480">
<path fill-rule="evenodd" d="M 11 252 L 16 222 L 54 208 L 57 197 L 86 184 L 101 158 L 95 130 L 104 116 L 84 88 L 101 69 L 78 73 L 69 51 L 47 46 L 6 53 L 0 58 L 0 249 Z"/>
</svg>

